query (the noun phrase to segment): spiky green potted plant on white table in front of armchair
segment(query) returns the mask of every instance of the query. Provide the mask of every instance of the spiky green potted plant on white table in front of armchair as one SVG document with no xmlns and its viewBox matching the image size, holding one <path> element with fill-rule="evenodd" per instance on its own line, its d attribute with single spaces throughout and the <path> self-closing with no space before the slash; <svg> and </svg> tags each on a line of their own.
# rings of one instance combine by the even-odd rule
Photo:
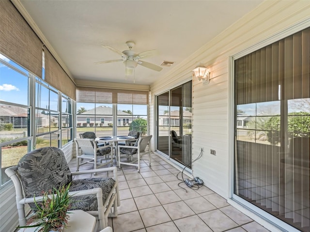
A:
<svg viewBox="0 0 310 232">
<path fill-rule="evenodd" d="M 73 203 L 69 195 L 70 184 L 59 189 L 53 188 L 43 194 L 42 202 L 34 198 L 35 212 L 28 220 L 28 225 L 17 228 L 38 227 L 36 232 L 61 232 L 66 228 L 69 215 L 68 209 Z"/>
</svg>

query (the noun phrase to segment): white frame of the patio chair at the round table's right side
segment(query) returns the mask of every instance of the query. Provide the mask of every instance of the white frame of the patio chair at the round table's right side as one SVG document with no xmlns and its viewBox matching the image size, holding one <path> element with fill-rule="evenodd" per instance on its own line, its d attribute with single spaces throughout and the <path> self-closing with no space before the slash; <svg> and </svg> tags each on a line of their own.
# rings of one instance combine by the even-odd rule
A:
<svg viewBox="0 0 310 232">
<path fill-rule="evenodd" d="M 138 146 L 128 146 L 128 145 L 118 145 L 118 167 L 121 168 L 121 164 L 125 165 L 131 165 L 131 166 L 136 166 L 138 167 L 138 172 L 140 172 L 140 160 L 144 160 L 143 156 L 144 155 L 149 155 L 149 166 L 151 166 L 151 150 L 150 146 L 148 150 L 146 149 L 146 146 L 149 145 L 149 142 L 152 138 L 152 135 L 148 136 L 141 136 L 138 141 Z M 131 148 L 131 149 L 137 149 L 137 152 L 133 155 L 127 155 L 121 153 L 120 148 Z M 130 161 L 128 162 L 122 162 L 121 161 L 121 155 L 124 155 L 123 158 L 130 158 Z M 137 157 L 134 157 L 137 156 Z M 135 158 L 135 159 L 134 159 Z M 135 163 L 138 160 L 138 163 Z"/>
</svg>

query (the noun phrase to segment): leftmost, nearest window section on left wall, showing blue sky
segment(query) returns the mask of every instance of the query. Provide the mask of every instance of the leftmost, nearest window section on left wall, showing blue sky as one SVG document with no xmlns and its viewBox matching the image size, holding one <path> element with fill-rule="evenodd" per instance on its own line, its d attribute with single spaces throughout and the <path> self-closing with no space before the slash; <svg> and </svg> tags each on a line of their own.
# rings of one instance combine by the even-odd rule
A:
<svg viewBox="0 0 310 232">
<path fill-rule="evenodd" d="M 0 186 L 10 180 L 4 170 L 31 147 L 30 78 L 27 70 L 0 54 Z"/>
</svg>

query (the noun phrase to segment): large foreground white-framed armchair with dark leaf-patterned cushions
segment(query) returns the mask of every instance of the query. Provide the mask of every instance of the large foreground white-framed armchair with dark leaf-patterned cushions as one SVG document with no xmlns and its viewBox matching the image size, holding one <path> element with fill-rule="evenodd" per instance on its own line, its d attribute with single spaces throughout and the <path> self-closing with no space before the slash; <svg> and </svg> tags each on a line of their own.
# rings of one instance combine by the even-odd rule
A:
<svg viewBox="0 0 310 232">
<path fill-rule="evenodd" d="M 73 180 L 73 176 L 78 174 L 100 172 L 113 172 L 113 177 Z M 25 204 L 34 207 L 34 197 L 36 202 L 40 202 L 40 195 L 44 192 L 69 184 L 70 195 L 74 195 L 70 210 L 80 209 L 97 216 L 101 229 L 108 226 L 108 217 L 117 217 L 120 199 L 116 167 L 71 173 L 61 149 L 43 147 L 23 156 L 16 166 L 7 168 L 5 173 L 15 186 L 19 226 L 26 225 Z M 112 206 L 113 213 L 109 214 Z"/>
</svg>

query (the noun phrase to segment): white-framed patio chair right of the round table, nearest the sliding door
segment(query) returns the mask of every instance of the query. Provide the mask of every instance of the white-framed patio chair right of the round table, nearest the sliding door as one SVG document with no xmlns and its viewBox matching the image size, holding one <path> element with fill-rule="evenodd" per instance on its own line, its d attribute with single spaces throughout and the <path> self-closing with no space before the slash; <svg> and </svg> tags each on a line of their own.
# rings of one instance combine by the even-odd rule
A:
<svg viewBox="0 0 310 232">
<path fill-rule="evenodd" d="M 146 146 L 149 144 L 152 135 L 141 136 L 133 146 L 129 145 L 118 145 L 118 166 L 121 168 L 121 164 L 131 165 L 138 167 L 140 172 L 140 160 L 144 155 L 149 155 L 149 166 L 151 166 L 151 151 L 150 146 L 146 150 Z M 124 155 L 121 157 L 121 155 Z M 121 158 L 126 158 L 127 161 L 122 161 Z M 130 159 L 128 161 L 128 159 Z M 138 161 L 138 163 L 136 163 Z"/>
</svg>

